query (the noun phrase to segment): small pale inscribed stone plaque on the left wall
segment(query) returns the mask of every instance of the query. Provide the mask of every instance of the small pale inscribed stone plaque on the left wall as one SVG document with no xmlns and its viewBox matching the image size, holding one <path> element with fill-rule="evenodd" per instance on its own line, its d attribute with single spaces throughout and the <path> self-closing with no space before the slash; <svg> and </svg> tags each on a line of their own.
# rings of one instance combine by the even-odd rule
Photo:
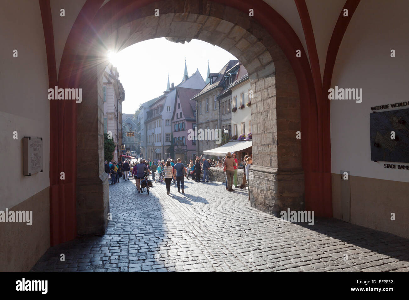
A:
<svg viewBox="0 0 409 300">
<path fill-rule="evenodd" d="M 31 176 L 43 171 L 43 139 L 23 138 L 23 175 Z"/>
</svg>

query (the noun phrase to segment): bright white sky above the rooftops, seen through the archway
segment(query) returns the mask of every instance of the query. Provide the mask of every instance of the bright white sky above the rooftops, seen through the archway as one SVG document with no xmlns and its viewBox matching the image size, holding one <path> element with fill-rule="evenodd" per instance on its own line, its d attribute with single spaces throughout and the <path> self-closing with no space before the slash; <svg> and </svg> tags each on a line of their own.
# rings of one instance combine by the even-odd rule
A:
<svg viewBox="0 0 409 300">
<path fill-rule="evenodd" d="M 183 78 L 185 57 L 189 76 L 199 69 L 205 81 L 208 59 L 211 73 L 220 71 L 229 60 L 237 59 L 224 49 L 201 40 L 180 44 L 165 38 L 139 42 L 110 57 L 125 89 L 123 113 L 135 113 L 140 104 L 162 95 L 168 72 L 170 83 L 178 85 Z"/>
</svg>

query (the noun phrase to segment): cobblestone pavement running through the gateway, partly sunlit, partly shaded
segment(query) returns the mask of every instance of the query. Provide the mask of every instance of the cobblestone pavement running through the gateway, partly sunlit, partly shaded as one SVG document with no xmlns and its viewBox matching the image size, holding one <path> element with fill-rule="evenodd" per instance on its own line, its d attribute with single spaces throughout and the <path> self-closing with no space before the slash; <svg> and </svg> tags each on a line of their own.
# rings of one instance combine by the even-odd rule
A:
<svg viewBox="0 0 409 300">
<path fill-rule="evenodd" d="M 106 234 L 50 248 L 31 271 L 409 271 L 409 240 L 335 219 L 282 222 L 247 191 L 185 181 L 136 193 L 110 186 Z M 60 261 L 61 253 L 65 261 Z"/>
</svg>

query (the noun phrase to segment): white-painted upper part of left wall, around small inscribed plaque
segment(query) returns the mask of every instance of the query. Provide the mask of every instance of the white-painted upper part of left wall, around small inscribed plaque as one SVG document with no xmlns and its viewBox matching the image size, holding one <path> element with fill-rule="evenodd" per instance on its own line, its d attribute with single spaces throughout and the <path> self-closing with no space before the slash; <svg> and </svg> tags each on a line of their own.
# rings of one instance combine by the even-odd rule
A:
<svg viewBox="0 0 409 300">
<path fill-rule="evenodd" d="M 0 36 L 0 210 L 4 210 L 49 186 L 50 100 L 38 1 L 2 1 Z M 18 139 L 13 139 L 13 131 L 18 132 Z M 43 173 L 22 175 L 24 136 L 43 138 Z"/>
</svg>

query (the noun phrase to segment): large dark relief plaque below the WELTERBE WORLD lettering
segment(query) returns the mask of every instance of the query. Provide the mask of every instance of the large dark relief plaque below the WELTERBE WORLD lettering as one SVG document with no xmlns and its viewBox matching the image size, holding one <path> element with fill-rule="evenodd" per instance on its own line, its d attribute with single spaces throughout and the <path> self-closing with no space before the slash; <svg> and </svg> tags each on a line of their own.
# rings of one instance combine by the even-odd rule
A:
<svg viewBox="0 0 409 300">
<path fill-rule="evenodd" d="M 409 162 L 409 109 L 375 112 L 369 119 L 371 160 Z"/>
</svg>

